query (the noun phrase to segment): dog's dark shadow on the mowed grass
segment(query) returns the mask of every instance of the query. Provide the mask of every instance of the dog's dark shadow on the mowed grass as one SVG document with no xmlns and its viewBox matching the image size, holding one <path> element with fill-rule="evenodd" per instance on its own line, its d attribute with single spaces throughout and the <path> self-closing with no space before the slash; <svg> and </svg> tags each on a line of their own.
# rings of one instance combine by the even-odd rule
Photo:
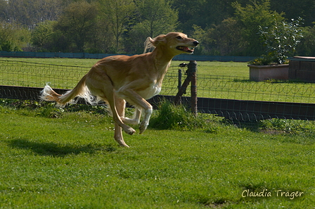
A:
<svg viewBox="0 0 315 209">
<path fill-rule="evenodd" d="M 96 151 L 113 152 L 116 151 L 115 146 L 111 144 L 86 144 L 86 145 L 75 145 L 75 144 L 56 144 L 53 142 L 37 142 L 29 141 L 27 139 L 13 139 L 8 141 L 8 146 L 12 148 L 20 148 L 25 150 L 31 150 L 40 156 L 54 156 L 54 157 L 65 157 L 68 155 L 79 155 L 80 153 L 93 154 Z"/>
</svg>

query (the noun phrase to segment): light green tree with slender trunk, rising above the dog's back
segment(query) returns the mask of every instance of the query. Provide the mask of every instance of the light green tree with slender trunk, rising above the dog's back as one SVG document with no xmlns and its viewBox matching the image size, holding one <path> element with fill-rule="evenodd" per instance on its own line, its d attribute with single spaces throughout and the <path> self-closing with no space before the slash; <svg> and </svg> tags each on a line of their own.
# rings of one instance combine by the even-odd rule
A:
<svg viewBox="0 0 315 209">
<path fill-rule="evenodd" d="M 108 20 L 109 28 L 115 36 L 116 51 L 120 50 L 120 38 L 127 31 L 135 11 L 134 0 L 101 1 L 101 17 Z"/>
</svg>

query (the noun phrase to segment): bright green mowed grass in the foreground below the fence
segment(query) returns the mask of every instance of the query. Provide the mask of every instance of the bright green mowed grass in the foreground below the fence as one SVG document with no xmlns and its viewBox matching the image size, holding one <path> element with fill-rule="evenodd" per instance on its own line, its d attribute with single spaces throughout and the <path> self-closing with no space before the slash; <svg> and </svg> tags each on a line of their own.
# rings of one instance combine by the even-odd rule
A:
<svg viewBox="0 0 315 209">
<path fill-rule="evenodd" d="M 314 122 L 199 115 L 203 127 L 149 127 L 122 148 L 107 114 L 72 107 L 2 103 L 0 208 L 314 208 Z"/>
</svg>

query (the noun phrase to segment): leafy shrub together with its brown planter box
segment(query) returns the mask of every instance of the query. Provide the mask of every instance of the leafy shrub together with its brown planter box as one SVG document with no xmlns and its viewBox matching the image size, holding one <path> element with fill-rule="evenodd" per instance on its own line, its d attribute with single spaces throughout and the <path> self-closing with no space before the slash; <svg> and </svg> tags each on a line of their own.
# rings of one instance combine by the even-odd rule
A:
<svg viewBox="0 0 315 209">
<path fill-rule="evenodd" d="M 266 55 L 249 62 L 250 80 L 283 79 L 288 80 L 289 66 L 288 56 L 295 52 L 297 44 L 302 38 L 302 30 L 299 28 L 302 18 L 291 23 L 275 20 L 273 27 L 259 27 L 259 34 L 266 46 Z M 263 67 L 259 67 L 262 65 Z M 267 67 L 270 65 L 270 68 Z"/>
</svg>

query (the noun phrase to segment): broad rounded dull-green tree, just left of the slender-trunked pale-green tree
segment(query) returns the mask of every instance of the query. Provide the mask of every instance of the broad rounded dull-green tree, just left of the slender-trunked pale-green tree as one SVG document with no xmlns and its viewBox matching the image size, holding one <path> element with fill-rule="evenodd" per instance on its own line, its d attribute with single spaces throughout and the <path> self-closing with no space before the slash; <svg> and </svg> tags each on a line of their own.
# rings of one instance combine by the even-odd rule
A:
<svg viewBox="0 0 315 209">
<path fill-rule="evenodd" d="M 78 1 L 65 8 L 55 30 L 59 30 L 68 42 L 75 44 L 71 51 L 84 51 L 84 45 L 91 41 L 90 37 L 96 27 L 98 9 L 96 4 Z"/>
</svg>

